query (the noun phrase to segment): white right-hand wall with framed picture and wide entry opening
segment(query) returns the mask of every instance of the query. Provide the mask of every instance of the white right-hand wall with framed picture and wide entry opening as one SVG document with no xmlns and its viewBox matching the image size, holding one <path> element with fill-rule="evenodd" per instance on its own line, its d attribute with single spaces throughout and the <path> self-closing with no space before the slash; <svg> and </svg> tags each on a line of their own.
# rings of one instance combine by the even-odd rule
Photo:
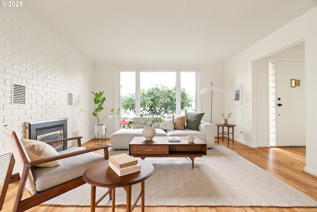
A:
<svg viewBox="0 0 317 212">
<path fill-rule="evenodd" d="M 236 55 L 224 65 L 225 71 L 225 108 L 237 113 L 232 117 L 237 123 L 236 130 L 243 131 L 244 142 L 253 147 L 259 145 L 258 133 L 262 130 L 257 123 L 266 119 L 267 113 L 261 111 L 261 104 L 266 100 L 257 99 L 261 84 L 257 84 L 257 68 L 263 58 L 293 46 L 305 40 L 305 90 L 306 90 L 306 167 L 305 171 L 317 175 L 317 142 L 315 129 L 317 123 L 317 7 L 292 21 L 280 30 Z M 232 105 L 232 86 L 243 84 L 243 104 Z M 262 91 L 263 92 L 263 91 Z M 245 100 L 249 98 L 249 104 Z M 261 143 L 261 142 L 260 142 Z"/>
</svg>

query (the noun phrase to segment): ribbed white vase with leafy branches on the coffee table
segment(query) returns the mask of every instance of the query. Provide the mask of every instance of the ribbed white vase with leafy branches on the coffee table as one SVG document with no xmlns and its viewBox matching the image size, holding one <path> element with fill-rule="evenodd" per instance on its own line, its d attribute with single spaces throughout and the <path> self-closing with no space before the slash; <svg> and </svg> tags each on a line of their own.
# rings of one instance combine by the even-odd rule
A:
<svg viewBox="0 0 317 212">
<path fill-rule="evenodd" d="M 155 116 L 154 114 L 152 114 L 152 119 L 145 119 L 144 118 L 144 113 L 141 113 L 140 117 L 143 119 L 143 122 L 134 122 L 134 121 L 129 121 L 128 125 L 123 126 L 122 128 L 125 129 L 131 129 L 131 127 L 133 125 L 145 125 L 145 128 L 142 131 L 142 135 L 145 137 L 146 140 L 150 141 L 152 140 L 155 135 L 156 135 L 156 130 L 153 127 L 154 123 L 162 123 L 164 122 L 164 116 Z"/>
</svg>

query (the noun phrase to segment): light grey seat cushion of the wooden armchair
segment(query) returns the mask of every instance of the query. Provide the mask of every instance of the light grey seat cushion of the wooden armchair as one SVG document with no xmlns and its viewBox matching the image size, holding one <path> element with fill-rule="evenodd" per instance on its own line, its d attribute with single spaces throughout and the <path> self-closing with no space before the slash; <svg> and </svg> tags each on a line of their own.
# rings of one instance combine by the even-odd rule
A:
<svg viewBox="0 0 317 212">
<path fill-rule="evenodd" d="M 59 151 L 58 154 L 64 154 L 83 149 L 83 147 L 72 147 L 63 151 Z M 61 159 L 61 166 L 46 168 L 32 166 L 31 170 L 34 177 L 36 190 L 38 192 L 45 191 L 56 185 L 80 177 L 88 167 L 103 160 L 105 160 L 103 155 L 96 154 L 94 152 L 88 152 Z"/>
</svg>

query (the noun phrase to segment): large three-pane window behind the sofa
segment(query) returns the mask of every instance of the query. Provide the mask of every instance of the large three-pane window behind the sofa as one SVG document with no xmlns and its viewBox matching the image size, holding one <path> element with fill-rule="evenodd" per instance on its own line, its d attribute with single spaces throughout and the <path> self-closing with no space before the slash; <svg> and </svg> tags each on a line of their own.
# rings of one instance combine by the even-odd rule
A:
<svg viewBox="0 0 317 212">
<path fill-rule="evenodd" d="M 168 116 L 196 111 L 198 69 L 118 69 L 120 126 L 143 113 Z"/>
</svg>

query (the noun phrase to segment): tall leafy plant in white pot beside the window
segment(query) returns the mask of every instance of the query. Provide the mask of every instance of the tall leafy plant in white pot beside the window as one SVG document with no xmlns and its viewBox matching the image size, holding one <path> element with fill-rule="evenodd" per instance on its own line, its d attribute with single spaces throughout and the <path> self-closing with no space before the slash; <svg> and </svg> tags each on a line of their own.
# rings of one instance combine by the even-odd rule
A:
<svg viewBox="0 0 317 212">
<path fill-rule="evenodd" d="M 118 108 L 117 112 L 114 113 L 114 109 L 112 108 L 110 110 L 111 113 L 109 113 L 108 115 L 106 115 L 103 119 L 100 118 L 100 112 L 102 110 L 104 110 L 104 102 L 106 100 L 106 97 L 103 96 L 104 95 L 104 91 L 103 92 L 91 92 L 94 97 L 93 97 L 93 100 L 94 100 L 94 106 L 95 106 L 95 110 L 94 112 L 92 112 L 92 115 L 83 111 L 82 109 L 80 109 L 81 111 L 87 113 L 88 115 L 90 115 L 92 118 L 94 118 L 94 120 L 96 121 L 96 125 L 95 125 L 95 135 L 96 136 L 102 136 L 102 135 L 105 135 L 106 134 L 106 127 L 105 125 L 103 124 L 103 121 L 106 119 L 106 117 L 110 117 L 112 118 L 111 115 L 114 115 L 115 118 L 117 118 L 115 115 L 116 114 L 120 114 L 120 108 Z"/>
</svg>

